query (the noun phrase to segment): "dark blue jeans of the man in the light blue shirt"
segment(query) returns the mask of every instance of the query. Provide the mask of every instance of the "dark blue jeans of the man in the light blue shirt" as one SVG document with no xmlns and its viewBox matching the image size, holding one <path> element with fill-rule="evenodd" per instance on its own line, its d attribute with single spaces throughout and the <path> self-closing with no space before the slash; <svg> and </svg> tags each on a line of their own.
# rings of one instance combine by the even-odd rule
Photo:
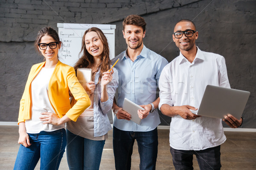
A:
<svg viewBox="0 0 256 170">
<path fill-rule="evenodd" d="M 113 127 L 113 151 L 116 170 L 131 169 L 134 140 L 140 154 L 140 170 L 155 170 L 157 161 L 157 128 L 148 132 L 132 132 Z"/>
</svg>

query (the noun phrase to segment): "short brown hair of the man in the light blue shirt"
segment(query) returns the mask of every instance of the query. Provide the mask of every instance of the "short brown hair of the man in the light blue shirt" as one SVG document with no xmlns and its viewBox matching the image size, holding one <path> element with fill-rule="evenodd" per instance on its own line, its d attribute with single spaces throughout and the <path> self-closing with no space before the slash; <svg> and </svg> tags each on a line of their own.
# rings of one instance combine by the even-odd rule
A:
<svg viewBox="0 0 256 170">
<path fill-rule="evenodd" d="M 123 21 L 123 30 L 125 31 L 126 25 L 135 25 L 135 26 L 141 26 L 143 28 L 143 32 L 146 30 L 146 22 L 143 17 L 140 17 L 139 15 L 128 15 L 125 20 Z"/>
</svg>

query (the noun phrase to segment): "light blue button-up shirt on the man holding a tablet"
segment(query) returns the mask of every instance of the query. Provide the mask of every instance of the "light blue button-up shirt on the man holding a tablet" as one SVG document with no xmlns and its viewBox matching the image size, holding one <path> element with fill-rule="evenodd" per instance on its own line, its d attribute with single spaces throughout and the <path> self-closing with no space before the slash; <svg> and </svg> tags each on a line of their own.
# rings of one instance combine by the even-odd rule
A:
<svg viewBox="0 0 256 170">
<path fill-rule="evenodd" d="M 127 51 L 127 50 L 126 50 Z M 156 100 L 158 80 L 164 66 L 168 61 L 143 46 L 143 49 L 134 62 L 127 56 L 126 51 L 113 58 L 119 76 L 117 105 L 122 108 L 124 99 L 127 98 L 137 105 L 147 105 Z M 125 131 L 146 132 L 154 130 L 160 124 L 157 109 L 142 119 L 140 125 L 125 119 L 114 118 L 113 125 Z"/>
</svg>

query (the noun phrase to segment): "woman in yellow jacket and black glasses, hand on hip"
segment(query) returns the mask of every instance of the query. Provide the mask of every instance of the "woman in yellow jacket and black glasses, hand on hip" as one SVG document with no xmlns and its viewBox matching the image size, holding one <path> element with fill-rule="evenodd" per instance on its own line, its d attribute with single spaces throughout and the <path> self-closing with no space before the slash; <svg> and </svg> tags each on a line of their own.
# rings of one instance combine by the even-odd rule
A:
<svg viewBox="0 0 256 170">
<path fill-rule="evenodd" d="M 32 66 L 20 100 L 20 149 L 14 169 L 33 170 L 41 158 L 41 169 L 57 170 L 67 145 L 65 122 L 76 121 L 90 99 L 74 68 L 58 60 L 61 41 L 54 29 L 42 28 L 35 47 L 46 61 Z M 72 108 L 69 91 L 77 101 Z"/>
</svg>

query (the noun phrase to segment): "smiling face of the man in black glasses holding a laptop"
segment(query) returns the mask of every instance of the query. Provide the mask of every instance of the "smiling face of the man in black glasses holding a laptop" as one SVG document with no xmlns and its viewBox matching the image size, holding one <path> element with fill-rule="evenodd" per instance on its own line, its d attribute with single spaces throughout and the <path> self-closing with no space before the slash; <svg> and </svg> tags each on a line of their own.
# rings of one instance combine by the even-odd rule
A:
<svg viewBox="0 0 256 170">
<path fill-rule="evenodd" d="M 191 22 L 183 21 L 177 23 L 174 28 L 174 32 L 186 30 L 195 30 L 195 26 L 193 26 Z M 175 42 L 176 46 L 180 48 L 180 51 L 189 51 L 192 48 L 196 48 L 195 40 L 198 39 L 198 32 L 195 32 L 192 37 L 186 37 L 185 34 L 183 34 L 181 38 L 175 38 L 175 36 L 172 35 L 172 39 Z"/>
</svg>

